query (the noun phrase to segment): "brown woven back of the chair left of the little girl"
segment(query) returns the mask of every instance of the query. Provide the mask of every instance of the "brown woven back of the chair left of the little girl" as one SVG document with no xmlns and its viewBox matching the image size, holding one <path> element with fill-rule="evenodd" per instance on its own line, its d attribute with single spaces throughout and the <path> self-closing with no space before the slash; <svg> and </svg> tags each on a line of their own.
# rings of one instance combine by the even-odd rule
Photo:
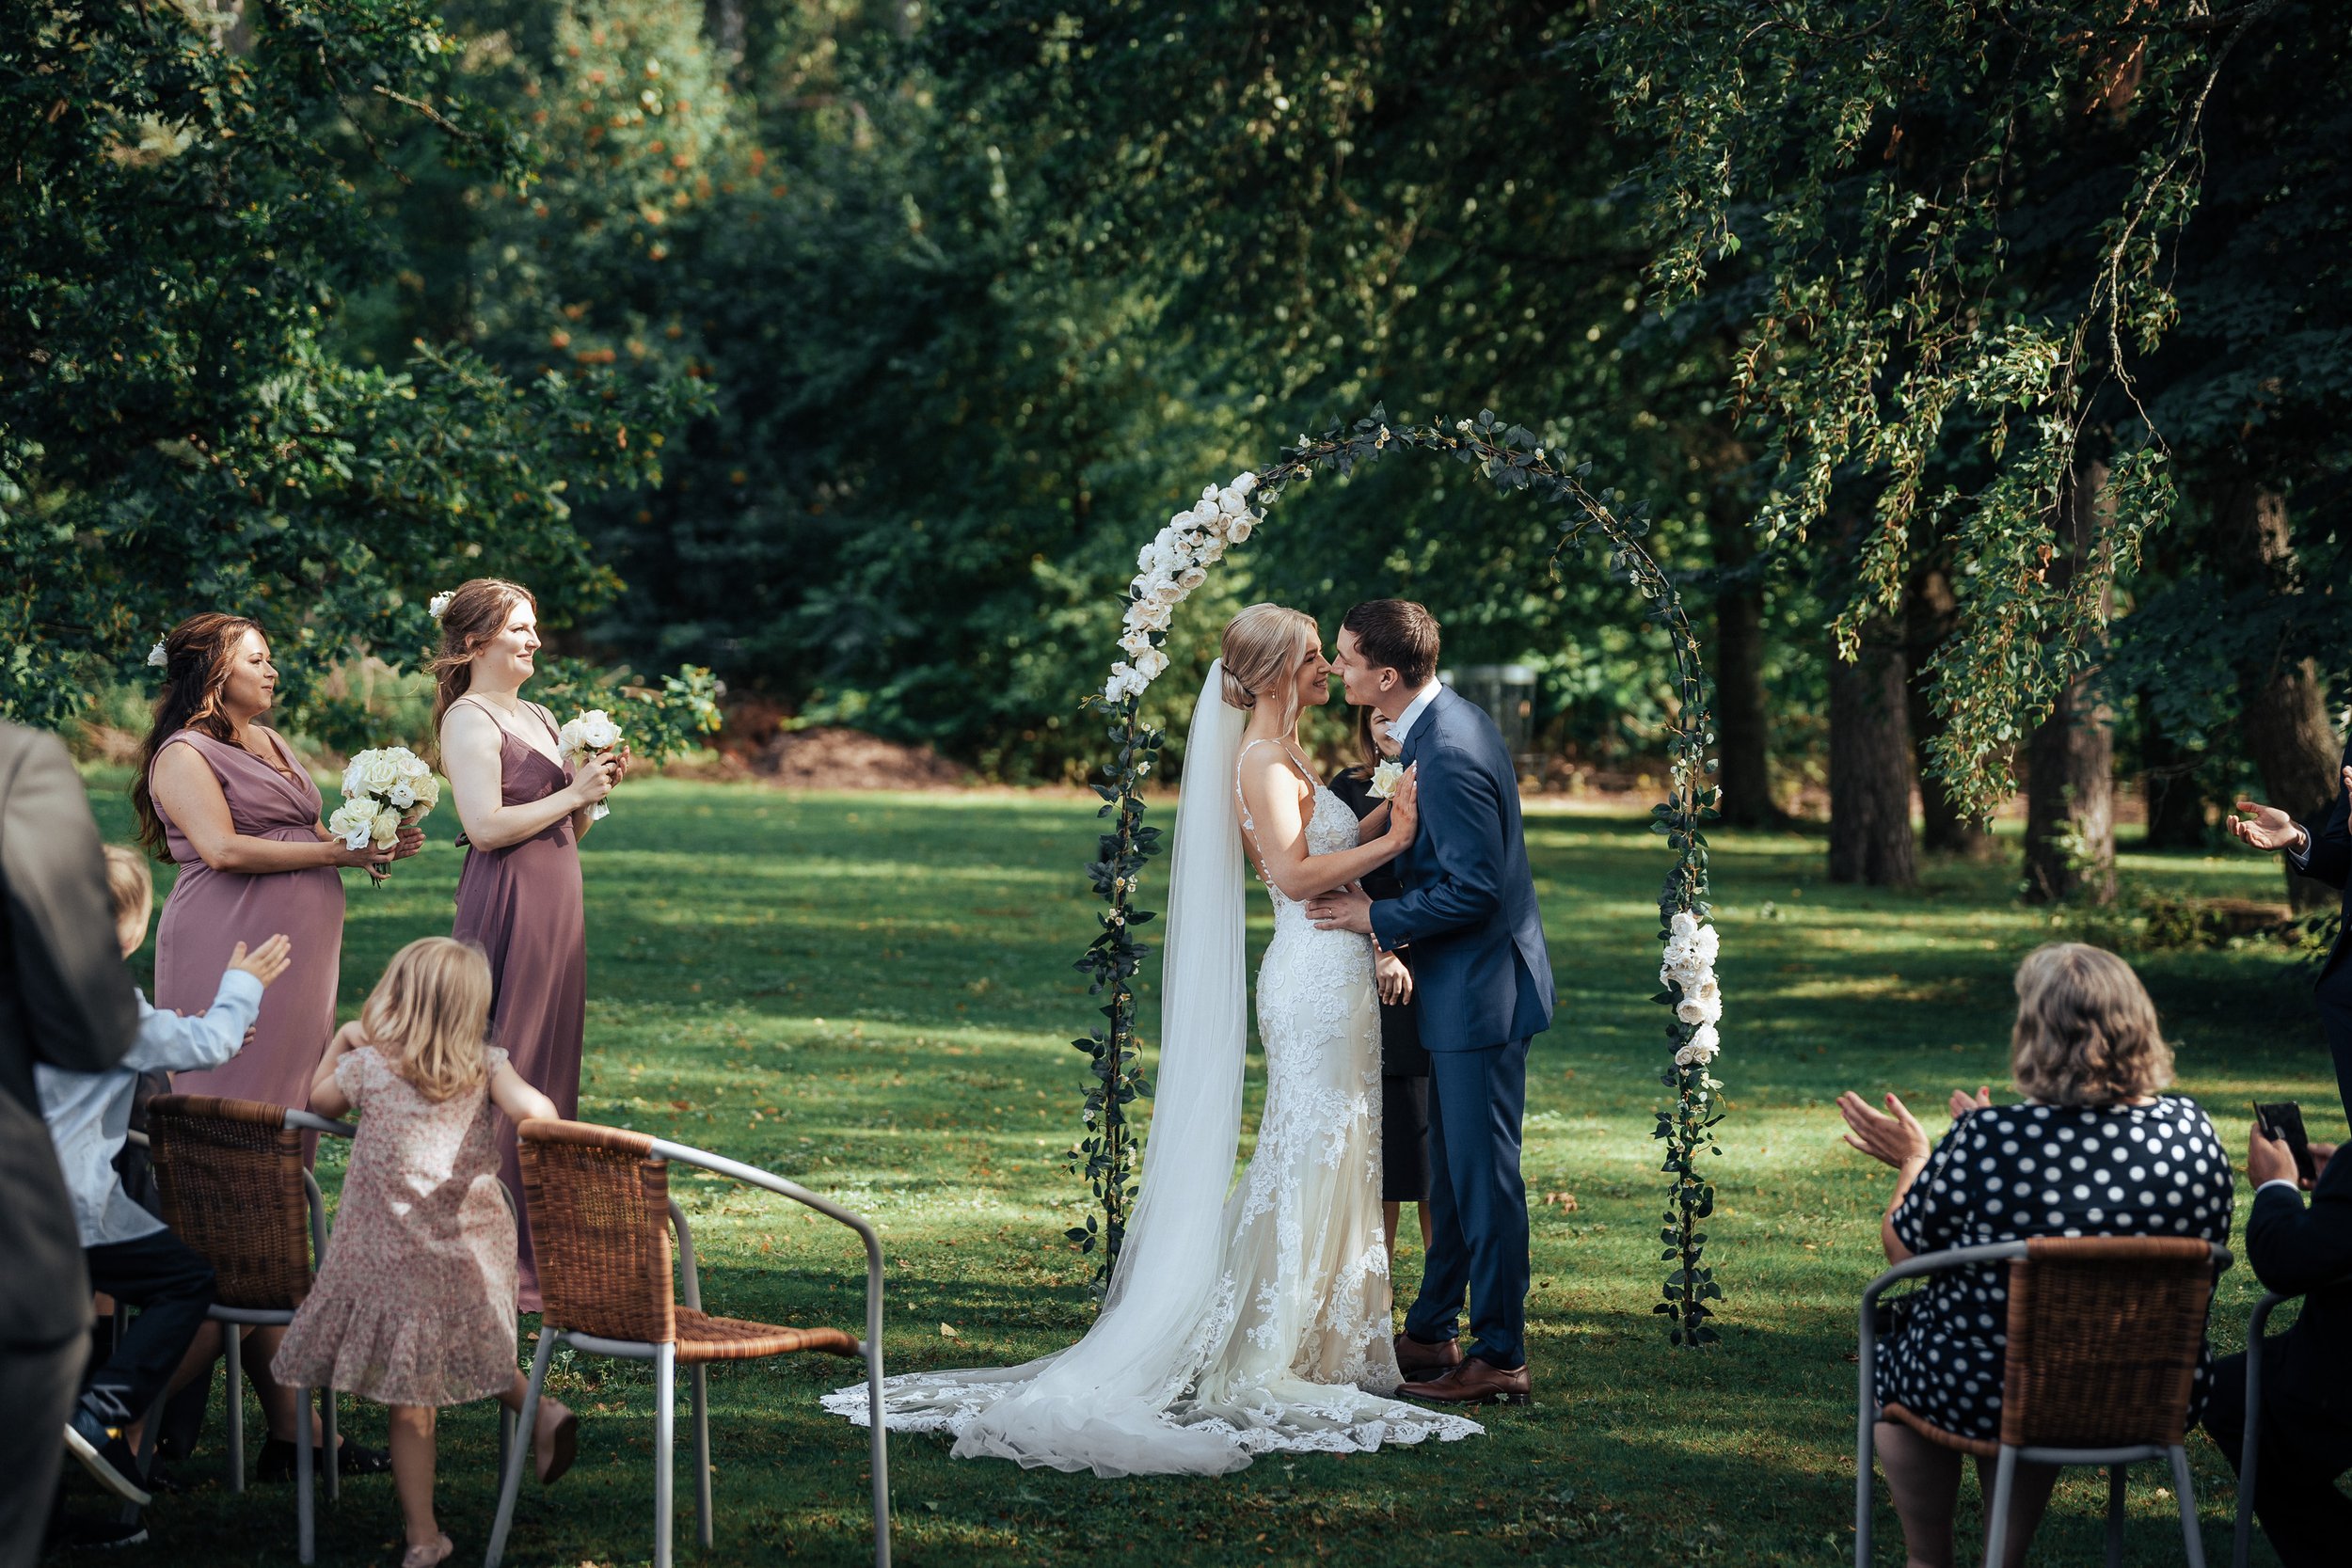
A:
<svg viewBox="0 0 2352 1568">
<path fill-rule="evenodd" d="M 292 1312 L 310 1295 L 301 1133 L 285 1107 L 212 1095 L 148 1100 L 162 1218 L 219 1276 L 223 1307 Z"/>
</svg>

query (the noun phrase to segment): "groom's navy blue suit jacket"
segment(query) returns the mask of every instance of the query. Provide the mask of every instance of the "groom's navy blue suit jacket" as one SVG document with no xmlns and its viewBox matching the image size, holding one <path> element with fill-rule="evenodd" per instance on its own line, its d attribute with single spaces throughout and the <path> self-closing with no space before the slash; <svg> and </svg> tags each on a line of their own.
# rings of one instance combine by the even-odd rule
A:
<svg viewBox="0 0 2352 1568">
<path fill-rule="evenodd" d="M 1421 830 L 1397 856 L 1404 893 L 1374 900 L 1371 933 L 1414 950 L 1421 1044 L 1484 1051 L 1548 1030 L 1552 959 L 1510 748 L 1477 703 L 1439 689 L 1402 762 L 1421 764 Z"/>
</svg>

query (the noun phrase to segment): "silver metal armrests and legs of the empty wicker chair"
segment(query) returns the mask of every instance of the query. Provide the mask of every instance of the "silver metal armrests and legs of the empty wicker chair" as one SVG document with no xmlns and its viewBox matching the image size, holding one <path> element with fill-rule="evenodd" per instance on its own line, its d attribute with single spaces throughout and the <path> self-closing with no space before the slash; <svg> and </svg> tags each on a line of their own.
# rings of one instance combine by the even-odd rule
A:
<svg viewBox="0 0 2352 1568">
<path fill-rule="evenodd" d="M 760 1166 L 748 1166 L 739 1159 L 727 1159 L 724 1154 L 713 1154 L 708 1150 L 696 1150 L 684 1143 L 670 1143 L 668 1138 L 654 1138 L 652 1159 L 666 1159 L 682 1166 L 696 1166 L 701 1171 L 713 1171 L 727 1175 L 748 1187 L 760 1187 L 779 1197 L 788 1197 L 795 1204 L 814 1208 L 816 1213 L 847 1225 L 866 1244 L 866 1338 L 858 1340 L 858 1356 L 866 1361 L 866 1399 L 868 1399 L 868 1432 L 870 1432 L 870 1467 L 873 1467 L 873 1512 L 875 1512 L 875 1568 L 889 1568 L 889 1434 L 882 1422 L 882 1237 L 875 1232 L 866 1215 L 842 1208 L 833 1199 L 809 1192 L 800 1182 L 762 1171 Z M 703 1309 L 703 1286 L 701 1269 L 694 1262 L 694 1229 L 687 1225 L 687 1213 L 670 1199 L 670 1225 L 677 1232 L 677 1274 L 684 1305 L 694 1312 Z M 541 1316 L 539 1324 L 539 1349 L 532 1354 L 532 1378 L 522 1396 L 520 1432 L 522 1439 L 506 1446 L 501 1443 L 501 1479 L 499 1479 L 499 1514 L 489 1530 L 489 1552 L 482 1556 L 482 1568 L 499 1568 L 499 1559 L 506 1554 L 506 1535 L 515 1521 L 515 1500 L 522 1490 L 522 1458 L 529 1448 L 529 1429 L 539 1415 L 539 1396 L 546 1387 L 548 1363 L 555 1359 L 555 1342 L 562 1340 L 588 1354 L 597 1356 L 621 1356 L 628 1361 L 652 1361 L 654 1363 L 654 1568 L 670 1568 L 673 1556 L 673 1446 L 675 1446 L 675 1422 L 677 1422 L 677 1347 L 656 1345 L 652 1340 L 607 1340 L 590 1333 L 579 1333 L 572 1328 L 550 1328 Z M 696 1540 L 703 1549 L 710 1547 L 710 1401 L 708 1401 L 708 1366 L 696 1363 L 689 1378 L 694 1399 L 694 1521 Z M 503 1436 L 503 1432 L 501 1432 Z"/>
</svg>

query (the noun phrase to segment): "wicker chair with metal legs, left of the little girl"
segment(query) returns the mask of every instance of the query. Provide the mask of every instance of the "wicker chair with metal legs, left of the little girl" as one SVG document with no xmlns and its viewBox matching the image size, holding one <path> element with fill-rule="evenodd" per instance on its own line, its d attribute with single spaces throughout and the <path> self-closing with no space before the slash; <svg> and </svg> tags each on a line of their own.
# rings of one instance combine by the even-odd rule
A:
<svg viewBox="0 0 2352 1568">
<path fill-rule="evenodd" d="M 350 1126 L 306 1110 L 209 1095 L 148 1103 L 148 1154 L 162 1190 L 165 1222 L 219 1274 L 212 1321 L 228 1347 L 228 1490 L 245 1490 L 245 1361 L 238 1328 L 292 1324 L 327 1258 L 327 1204 L 303 1159 L 303 1133 L 350 1138 Z M 296 1389 L 296 1408 L 310 1389 Z M 334 1389 L 320 1401 L 320 1436 L 334 1453 Z M 327 1465 L 327 1500 L 336 1465 Z M 294 1441 L 296 1554 L 318 1549 L 310 1500 L 310 1443 Z"/>
</svg>

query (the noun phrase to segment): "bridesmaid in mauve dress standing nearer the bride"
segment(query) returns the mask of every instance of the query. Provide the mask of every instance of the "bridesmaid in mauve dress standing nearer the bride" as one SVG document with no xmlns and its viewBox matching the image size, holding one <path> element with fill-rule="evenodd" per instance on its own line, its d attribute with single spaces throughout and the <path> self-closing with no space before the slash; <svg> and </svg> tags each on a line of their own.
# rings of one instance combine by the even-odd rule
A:
<svg viewBox="0 0 2352 1568">
<path fill-rule="evenodd" d="M 527 588 L 475 578 L 449 595 L 440 623 L 433 705 L 442 771 L 468 844 L 449 936 L 489 957 L 496 987 L 489 1037 L 522 1081 L 572 1119 L 588 1020 L 579 839 L 628 762 L 597 757 L 574 776 L 555 741 L 555 717 L 522 701 L 539 651 L 539 604 Z M 522 1164 L 506 1121 L 499 1124 L 499 1175 L 515 1194 L 520 1307 L 539 1312 Z"/>
</svg>

